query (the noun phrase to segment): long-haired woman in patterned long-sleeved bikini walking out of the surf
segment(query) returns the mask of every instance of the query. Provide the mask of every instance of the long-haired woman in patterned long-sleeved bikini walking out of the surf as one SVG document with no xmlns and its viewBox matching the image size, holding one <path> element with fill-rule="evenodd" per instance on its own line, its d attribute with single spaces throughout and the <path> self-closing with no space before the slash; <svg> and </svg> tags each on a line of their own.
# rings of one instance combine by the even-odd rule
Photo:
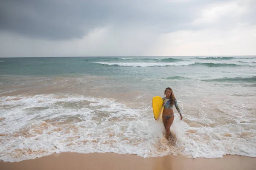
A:
<svg viewBox="0 0 256 170">
<path fill-rule="evenodd" d="M 164 94 L 166 97 L 163 97 L 163 125 L 166 128 L 166 139 L 169 139 L 171 133 L 170 127 L 172 126 L 172 122 L 174 120 L 174 113 L 172 110 L 173 105 L 175 105 L 175 108 L 180 113 L 180 120 L 182 120 L 183 117 L 172 89 L 166 88 Z"/>
</svg>

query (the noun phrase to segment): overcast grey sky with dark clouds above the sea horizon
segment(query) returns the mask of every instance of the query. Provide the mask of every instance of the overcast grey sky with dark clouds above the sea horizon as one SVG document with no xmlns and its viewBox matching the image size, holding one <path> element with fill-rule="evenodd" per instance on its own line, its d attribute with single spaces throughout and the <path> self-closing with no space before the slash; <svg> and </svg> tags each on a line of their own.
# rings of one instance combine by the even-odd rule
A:
<svg viewBox="0 0 256 170">
<path fill-rule="evenodd" d="M 256 0 L 0 0 L 0 57 L 256 55 Z"/>
</svg>

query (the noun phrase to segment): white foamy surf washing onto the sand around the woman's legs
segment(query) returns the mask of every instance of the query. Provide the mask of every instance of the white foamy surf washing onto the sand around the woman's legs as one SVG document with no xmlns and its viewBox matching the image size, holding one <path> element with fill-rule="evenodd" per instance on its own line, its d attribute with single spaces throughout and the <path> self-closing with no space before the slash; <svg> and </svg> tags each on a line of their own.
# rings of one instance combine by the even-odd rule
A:
<svg viewBox="0 0 256 170">
<path fill-rule="evenodd" d="M 184 108 L 183 102 L 178 102 Z M 168 154 L 190 158 L 219 158 L 226 154 L 256 157 L 256 123 L 248 119 L 246 123 L 212 126 L 212 119 L 184 115 L 183 122 L 175 115 L 173 140 L 167 142 L 163 123 L 154 120 L 148 105 L 132 109 L 114 99 L 35 95 L 0 97 L 0 106 L 3 161 L 60 152 L 113 152 L 144 158 Z M 241 120 L 245 121 L 245 117 Z"/>
</svg>

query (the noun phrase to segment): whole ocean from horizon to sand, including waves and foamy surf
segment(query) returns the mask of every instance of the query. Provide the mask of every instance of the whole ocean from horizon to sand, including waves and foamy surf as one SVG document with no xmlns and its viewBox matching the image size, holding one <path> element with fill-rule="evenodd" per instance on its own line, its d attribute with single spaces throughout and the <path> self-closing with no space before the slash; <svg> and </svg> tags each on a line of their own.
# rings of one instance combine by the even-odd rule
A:
<svg viewBox="0 0 256 170">
<path fill-rule="evenodd" d="M 152 97 L 172 88 L 172 139 Z M 0 58 L 0 160 L 256 157 L 256 56 Z"/>
</svg>

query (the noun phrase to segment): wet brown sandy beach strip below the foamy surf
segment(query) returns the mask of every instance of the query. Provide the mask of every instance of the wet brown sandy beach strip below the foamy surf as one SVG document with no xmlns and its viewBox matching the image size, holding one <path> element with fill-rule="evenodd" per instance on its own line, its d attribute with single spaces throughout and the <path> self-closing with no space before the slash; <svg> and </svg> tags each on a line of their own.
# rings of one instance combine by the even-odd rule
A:
<svg viewBox="0 0 256 170">
<path fill-rule="evenodd" d="M 0 162 L 1 170 L 255 170 L 256 158 L 227 155 L 219 159 L 176 156 L 142 158 L 116 153 L 58 153 L 20 162 Z"/>
</svg>

